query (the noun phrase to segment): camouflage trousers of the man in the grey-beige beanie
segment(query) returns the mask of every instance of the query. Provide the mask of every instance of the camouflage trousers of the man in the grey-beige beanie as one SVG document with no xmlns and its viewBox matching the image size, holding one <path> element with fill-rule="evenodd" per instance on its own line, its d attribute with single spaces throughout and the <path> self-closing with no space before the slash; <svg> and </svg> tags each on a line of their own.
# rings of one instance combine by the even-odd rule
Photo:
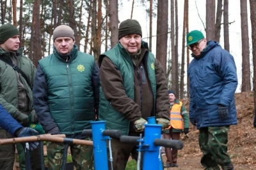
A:
<svg viewBox="0 0 256 170">
<path fill-rule="evenodd" d="M 89 137 L 84 140 L 92 141 L 92 138 Z M 74 166 L 77 170 L 94 169 L 93 146 L 71 145 L 70 151 Z M 61 169 L 63 152 L 63 143 L 47 142 L 47 158 L 49 170 Z"/>
</svg>

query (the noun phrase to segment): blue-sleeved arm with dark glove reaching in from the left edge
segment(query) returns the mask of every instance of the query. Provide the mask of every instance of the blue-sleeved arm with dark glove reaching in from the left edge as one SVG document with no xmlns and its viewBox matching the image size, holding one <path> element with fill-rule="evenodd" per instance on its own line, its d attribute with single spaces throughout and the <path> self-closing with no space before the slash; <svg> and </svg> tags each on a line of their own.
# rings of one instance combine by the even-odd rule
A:
<svg viewBox="0 0 256 170">
<path fill-rule="evenodd" d="M 19 138 L 38 135 L 38 132 L 30 127 L 23 127 L 8 113 L 0 104 L 0 126 L 10 134 Z M 39 145 L 38 141 L 29 142 L 29 150 L 35 150 Z"/>
</svg>

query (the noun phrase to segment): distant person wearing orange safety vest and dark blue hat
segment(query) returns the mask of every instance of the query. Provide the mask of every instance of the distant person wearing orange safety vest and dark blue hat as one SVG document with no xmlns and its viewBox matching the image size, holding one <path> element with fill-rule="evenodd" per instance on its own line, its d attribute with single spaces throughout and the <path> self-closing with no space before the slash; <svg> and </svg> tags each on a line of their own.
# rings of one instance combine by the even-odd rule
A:
<svg viewBox="0 0 256 170">
<path fill-rule="evenodd" d="M 170 127 L 163 131 L 164 139 L 180 139 L 180 132 L 188 134 L 189 132 L 189 117 L 188 113 L 181 101 L 176 99 L 175 92 L 168 90 L 170 101 Z M 165 167 L 178 167 L 177 156 L 178 150 L 175 148 L 164 148 L 166 153 Z"/>
</svg>

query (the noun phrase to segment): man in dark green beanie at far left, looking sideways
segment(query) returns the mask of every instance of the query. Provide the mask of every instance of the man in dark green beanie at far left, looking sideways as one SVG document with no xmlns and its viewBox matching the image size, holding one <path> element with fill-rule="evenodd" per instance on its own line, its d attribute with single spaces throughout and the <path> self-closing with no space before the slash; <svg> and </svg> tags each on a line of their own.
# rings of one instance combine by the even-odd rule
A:
<svg viewBox="0 0 256 170">
<path fill-rule="evenodd" d="M 38 124 L 35 110 L 32 105 L 32 87 L 35 78 L 35 66 L 28 57 L 22 55 L 23 48 L 19 48 L 19 31 L 12 24 L 3 24 L 0 27 L 0 67 L 1 70 L 1 95 L 0 103 L 19 124 L 28 127 L 29 124 Z M 13 69 L 19 66 L 21 71 Z M 12 124 L 12 122 L 9 122 Z M 0 128 L 1 138 L 13 138 Z M 25 170 L 24 148 L 17 144 L 19 165 Z M 15 145 L 0 146 L 1 169 L 13 169 Z M 41 169 L 40 151 L 36 148 L 31 152 L 33 169 Z"/>
</svg>

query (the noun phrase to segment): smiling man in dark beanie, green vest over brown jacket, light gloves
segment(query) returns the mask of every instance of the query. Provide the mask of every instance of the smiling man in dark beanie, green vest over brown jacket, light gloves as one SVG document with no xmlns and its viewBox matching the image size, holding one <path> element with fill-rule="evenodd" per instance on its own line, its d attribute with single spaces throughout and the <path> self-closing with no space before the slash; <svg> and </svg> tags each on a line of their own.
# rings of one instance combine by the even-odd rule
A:
<svg viewBox="0 0 256 170">
<path fill-rule="evenodd" d="M 99 120 L 106 121 L 107 129 L 119 129 L 129 136 L 140 136 L 147 117 L 156 117 L 163 128 L 170 124 L 163 67 L 141 36 L 137 20 L 124 20 L 119 25 L 117 45 L 99 56 Z M 124 145 L 113 138 L 111 148 L 114 170 L 125 169 L 130 153 L 137 159 L 136 145 Z"/>
</svg>

